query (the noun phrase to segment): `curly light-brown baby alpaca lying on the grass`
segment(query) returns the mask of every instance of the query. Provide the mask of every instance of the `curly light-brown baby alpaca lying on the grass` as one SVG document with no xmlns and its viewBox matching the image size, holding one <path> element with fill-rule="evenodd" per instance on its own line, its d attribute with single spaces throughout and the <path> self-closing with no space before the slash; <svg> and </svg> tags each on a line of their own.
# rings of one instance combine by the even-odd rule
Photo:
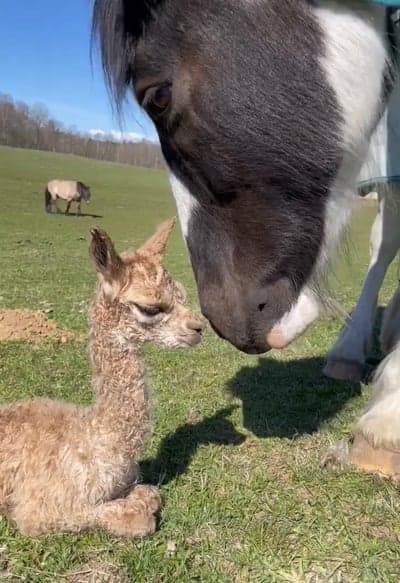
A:
<svg viewBox="0 0 400 583">
<path fill-rule="evenodd" d="M 25 534 L 155 530 L 158 490 L 135 485 L 149 425 L 142 349 L 194 346 L 202 331 L 161 264 L 172 227 L 166 221 L 122 255 L 104 231 L 91 231 L 93 405 L 37 399 L 0 408 L 0 509 Z"/>
</svg>

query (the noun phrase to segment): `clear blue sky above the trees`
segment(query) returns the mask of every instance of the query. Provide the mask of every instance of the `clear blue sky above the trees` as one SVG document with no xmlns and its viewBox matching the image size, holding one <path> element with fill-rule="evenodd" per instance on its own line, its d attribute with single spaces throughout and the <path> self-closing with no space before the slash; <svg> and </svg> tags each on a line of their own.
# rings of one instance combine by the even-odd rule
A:
<svg viewBox="0 0 400 583">
<path fill-rule="evenodd" d="M 119 131 L 98 59 L 90 63 L 91 0 L 1 0 L 0 92 L 45 104 L 79 131 Z M 156 139 L 135 105 L 122 129 Z"/>
</svg>

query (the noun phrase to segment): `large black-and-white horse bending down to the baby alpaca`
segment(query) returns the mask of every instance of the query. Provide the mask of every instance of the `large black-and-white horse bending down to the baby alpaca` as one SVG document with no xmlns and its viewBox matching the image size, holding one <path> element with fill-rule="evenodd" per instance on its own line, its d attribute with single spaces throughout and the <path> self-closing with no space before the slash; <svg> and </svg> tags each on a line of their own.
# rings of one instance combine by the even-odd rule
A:
<svg viewBox="0 0 400 583">
<path fill-rule="evenodd" d="M 113 100 L 132 91 L 158 132 L 202 312 L 241 351 L 284 348 L 320 313 L 398 85 L 392 14 L 357 0 L 94 2 Z M 392 451 L 400 471 L 392 337 L 350 444 L 355 465 L 388 475 L 377 459 Z"/>
</svg>

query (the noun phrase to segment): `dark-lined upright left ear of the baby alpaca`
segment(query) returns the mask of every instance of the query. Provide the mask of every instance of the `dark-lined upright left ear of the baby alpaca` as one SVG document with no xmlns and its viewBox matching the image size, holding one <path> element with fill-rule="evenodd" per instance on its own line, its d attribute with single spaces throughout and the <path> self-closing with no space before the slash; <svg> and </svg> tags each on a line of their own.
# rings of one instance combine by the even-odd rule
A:
<svg viewBox="0 0 400 583">
<path fill-rule="evenodd" d="M 109 282 L 117 279 L 123 270 L 123 263 L 113 242 L 102 229 L 91 229 L 90 234 L 89 253 L 97 273 Z"/>
</svg>

